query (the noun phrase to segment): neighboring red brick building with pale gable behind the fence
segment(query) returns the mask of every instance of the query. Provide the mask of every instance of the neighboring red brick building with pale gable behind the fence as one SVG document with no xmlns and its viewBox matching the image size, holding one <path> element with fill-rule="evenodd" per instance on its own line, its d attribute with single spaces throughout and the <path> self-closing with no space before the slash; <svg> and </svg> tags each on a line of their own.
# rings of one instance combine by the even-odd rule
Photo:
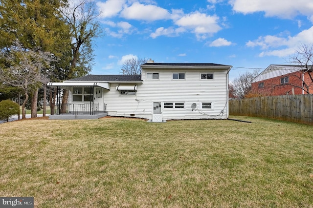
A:
<svg viewBox="0 0 313 208">
<path fill-rule="evenodd" d="M 252 93 L 264 96 L 307 94 L 301 88 L 304 83 L 310 94 L 313 93 L 313 83 L 306 68 L 271 64 L 252 81 L 251 89 Z"/>
</svg>

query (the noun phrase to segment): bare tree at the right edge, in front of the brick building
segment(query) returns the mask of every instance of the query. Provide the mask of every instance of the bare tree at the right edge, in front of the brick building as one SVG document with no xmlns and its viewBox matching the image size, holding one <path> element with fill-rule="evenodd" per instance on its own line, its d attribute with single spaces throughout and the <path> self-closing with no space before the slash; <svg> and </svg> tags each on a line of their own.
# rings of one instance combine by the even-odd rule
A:
<svg viewBox="0 0 313 208">
<path fill-rule="evenodd" d="M 296 53 L 290 57 L 290 62 L 294 63 L 299 71 L 293 73 L 292 77 L 299 82 L 289 82 L 295 88 L 300 88 L 307 94 L 313 93 L 313 44 L 302 44 Z M 297 84 L 298 83 L 298 84 Z"/>
</svg>

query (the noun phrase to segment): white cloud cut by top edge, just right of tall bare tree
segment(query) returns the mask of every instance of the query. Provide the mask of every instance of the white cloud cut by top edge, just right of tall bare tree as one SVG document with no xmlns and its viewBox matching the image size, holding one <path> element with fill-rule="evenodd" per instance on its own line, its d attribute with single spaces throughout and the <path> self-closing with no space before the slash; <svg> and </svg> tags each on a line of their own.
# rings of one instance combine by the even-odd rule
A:
<svg viewBox="0 0 313 208">
<path fill-rule="evenodd" d="M 126 0 L 107 0 L 105 2 L 98 1 L 96 5 L 99 7 L 100 17 L 110 18 L 116 16 L 122 11 Z"/>
</svg>

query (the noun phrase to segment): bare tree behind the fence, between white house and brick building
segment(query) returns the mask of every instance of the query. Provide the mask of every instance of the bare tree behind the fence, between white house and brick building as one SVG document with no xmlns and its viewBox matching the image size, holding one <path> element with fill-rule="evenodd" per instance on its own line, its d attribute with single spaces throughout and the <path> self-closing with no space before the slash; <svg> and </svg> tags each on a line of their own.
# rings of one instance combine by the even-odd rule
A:
<svg viewBox="0 0 313 208">
<path fill-rule="evenodd" d="M 233 94 L 239 98 L 245 98 L 251 91 L 251 82 L 258 76 L 259 71 L 246 71 L 244 74 L 240 74 L 233 82 Z"/>
</svg>

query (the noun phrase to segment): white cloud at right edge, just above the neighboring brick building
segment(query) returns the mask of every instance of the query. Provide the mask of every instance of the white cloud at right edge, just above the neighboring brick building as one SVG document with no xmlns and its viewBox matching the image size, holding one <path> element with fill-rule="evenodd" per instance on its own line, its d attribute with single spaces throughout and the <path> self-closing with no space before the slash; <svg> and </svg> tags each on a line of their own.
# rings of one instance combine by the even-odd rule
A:
<svg viewBox="0 0 313 208">
<path fill-rule="evenodd" d="M 285 57 L 295 52 L 301 44 L 313 44 L 313 26 L 307 30 L 303 30 L 297 35 L 291 37 L 264 36 L 259 37 L 255 41 L 248 41 L 248 47 L 261 47 L 264 50 L 259 54 L 262 56 L 278 56 Z M 271 48 L 278 48 L 270 50 Z"/>
</svg>

